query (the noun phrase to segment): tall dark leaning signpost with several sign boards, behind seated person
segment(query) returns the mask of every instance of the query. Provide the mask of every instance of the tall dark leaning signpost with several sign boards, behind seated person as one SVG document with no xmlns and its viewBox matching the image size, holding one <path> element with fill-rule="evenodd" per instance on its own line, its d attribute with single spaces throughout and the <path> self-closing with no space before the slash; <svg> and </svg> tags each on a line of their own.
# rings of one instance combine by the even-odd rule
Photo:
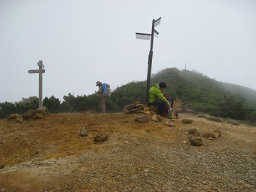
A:
<svg viewBox="0 0 256 192">
<path fill-rule="evenodd" d="M 160 24 L 161 17 L 157 20 L 152 21 L 152 29 L 151 34 L 148 33 L 141 33 L 136 32 L 136 38 L 138 39 L 144 39 L 149 40 L 151 38 L 151 49 L 149 50 L 148 55 L 148 76 L 147 76 L 147 88 L 146 88 L 146 97 L 145 97 L 145 104 L 148 106 L 148 98 L 149 98 L 149 88 L 150 88 L 150 81 L 151 81 L 151 69 L 152 69 L 152 60 L 153 60 L 153 42 L 154 42 L 154 35 L 158 35 L 159 32 L 157 32 L 154 27 L 158 26 Z"/>
</svg>

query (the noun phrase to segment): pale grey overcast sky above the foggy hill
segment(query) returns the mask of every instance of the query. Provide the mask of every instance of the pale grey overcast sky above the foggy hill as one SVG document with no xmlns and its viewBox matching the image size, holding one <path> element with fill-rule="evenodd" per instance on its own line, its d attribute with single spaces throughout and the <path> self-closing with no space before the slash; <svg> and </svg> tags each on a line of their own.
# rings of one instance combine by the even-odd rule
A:
<svg viewBox="0 0 256 192">
<path fill-rule="evenodd" d="M 256 90 L 255 0 L 0 0 L 0 102 L 92 94 L 145 81 L 152 20 L 152 73 L 175 67 Z M 168 85 L 167 85 L 168 86 Z"/>
</svg>

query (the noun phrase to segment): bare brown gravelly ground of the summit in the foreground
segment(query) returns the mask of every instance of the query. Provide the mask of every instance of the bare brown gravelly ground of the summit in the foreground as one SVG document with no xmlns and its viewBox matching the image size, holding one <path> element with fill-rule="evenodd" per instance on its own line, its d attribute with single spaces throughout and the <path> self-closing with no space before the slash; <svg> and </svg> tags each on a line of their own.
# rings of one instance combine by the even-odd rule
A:
<svg viewBox="0 0 256 192">
<path fill-rule="evenodd" d="M 166 118 L 139 123 L 138 115 L 0 120 L 0 191 L 256 191 L 255 127 L 194 114 L 171 127 Z M 190 129 L 222 136 L 193 146 Z M 99 133 L 108 139 L 96 142 Z"/>
</svg>

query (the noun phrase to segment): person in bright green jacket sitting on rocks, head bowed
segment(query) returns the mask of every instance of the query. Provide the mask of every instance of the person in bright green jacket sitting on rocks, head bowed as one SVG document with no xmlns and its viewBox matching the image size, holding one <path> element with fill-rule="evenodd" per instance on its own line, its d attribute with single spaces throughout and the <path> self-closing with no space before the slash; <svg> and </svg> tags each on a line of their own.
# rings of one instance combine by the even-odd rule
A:
<svg viewBox="0 0 256 192">
<path fill-rule="evenodd" d="M 157 106 L 157 114 L 172 118 L 172 114 L 169 114 L 170 103 L 163 96 L 163 90 L 166 90 L 165 83 L 161 82 L 160 84 L 154 84 L 154 86 L 149 89 L 148 105 Z"/>
</svg>

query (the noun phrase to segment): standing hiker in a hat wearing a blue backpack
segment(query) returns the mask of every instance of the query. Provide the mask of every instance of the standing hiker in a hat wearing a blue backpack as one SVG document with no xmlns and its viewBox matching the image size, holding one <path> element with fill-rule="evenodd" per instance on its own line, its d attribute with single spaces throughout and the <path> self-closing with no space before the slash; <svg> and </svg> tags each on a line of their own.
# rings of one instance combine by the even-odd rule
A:
<svg viewBox="0 0 256 192">
<path fill-rule="evenodd" d="M 111 89 L 109 84 L 102 84 L 101 81 L 97 81 L 96 86 L 99 86 L 99 90 L 96 94 L 99 96 L 101 112 L 105 113 L 105 101 L 107 97 L 111 95 Z"/>
</svg>

